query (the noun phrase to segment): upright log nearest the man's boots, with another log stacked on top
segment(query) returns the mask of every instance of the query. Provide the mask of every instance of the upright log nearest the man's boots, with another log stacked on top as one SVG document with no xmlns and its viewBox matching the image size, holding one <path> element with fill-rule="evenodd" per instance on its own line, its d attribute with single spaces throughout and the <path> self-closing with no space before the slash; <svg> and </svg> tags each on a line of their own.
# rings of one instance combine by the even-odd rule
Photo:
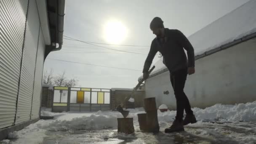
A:
<svg viewBox="0 0 256 144">
<path fill-rule="evenodd" d="M 147 119 L 147 131 L 158 133 L 159 132 L 159 124 L 157 118 L 157 110 L 148 111 L 146 114 Z"/>
</svg>

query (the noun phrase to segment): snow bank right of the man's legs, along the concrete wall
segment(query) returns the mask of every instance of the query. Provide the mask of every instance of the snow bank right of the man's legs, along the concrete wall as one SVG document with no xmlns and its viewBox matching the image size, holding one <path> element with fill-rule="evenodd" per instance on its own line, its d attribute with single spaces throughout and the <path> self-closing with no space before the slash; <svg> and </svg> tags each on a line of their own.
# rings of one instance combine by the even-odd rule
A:
<svg viewBox="0 0 256 144">
<path fill-rule="evenodd" d="M 215 104 L 205 109 L 194 108 L 193 111 L 197 120 L 217 119 L 231 122 L 256 122 L 256 101 L 235 105 Z"/>
</svg>

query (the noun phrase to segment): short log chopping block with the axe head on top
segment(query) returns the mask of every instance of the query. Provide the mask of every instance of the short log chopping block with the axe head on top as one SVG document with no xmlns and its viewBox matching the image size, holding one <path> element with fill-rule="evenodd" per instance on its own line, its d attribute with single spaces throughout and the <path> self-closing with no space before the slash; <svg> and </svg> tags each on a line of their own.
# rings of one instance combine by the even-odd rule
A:
<svg viewBox="0 0 256 144">
<path fill-rule="evenodd" d="M 134 133 L 133 118 L 117 118 L 117 132 L 125 134 Z"/>
</svg>

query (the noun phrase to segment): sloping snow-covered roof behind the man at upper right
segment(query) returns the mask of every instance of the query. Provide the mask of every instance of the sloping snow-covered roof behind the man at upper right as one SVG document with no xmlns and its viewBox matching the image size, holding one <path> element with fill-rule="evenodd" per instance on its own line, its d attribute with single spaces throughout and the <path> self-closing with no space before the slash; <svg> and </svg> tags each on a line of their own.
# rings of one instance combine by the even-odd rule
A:
<svg viewBox="0 0 256 144">
<path fill-rule="evenodd" d="M 181 30 L 182 31 L 182 30 Z M 188 37 L 196 59 L 256 37 L 256 0 L 250 0 Z M 242 39 L 243 38 L 243 39 Z M 168 71 L 157 61 L 150 77 Z M 142 77 L 142 76 L 141 76 Z M 139 77 L 139 79 L 141 79 Z"/>
</svg>

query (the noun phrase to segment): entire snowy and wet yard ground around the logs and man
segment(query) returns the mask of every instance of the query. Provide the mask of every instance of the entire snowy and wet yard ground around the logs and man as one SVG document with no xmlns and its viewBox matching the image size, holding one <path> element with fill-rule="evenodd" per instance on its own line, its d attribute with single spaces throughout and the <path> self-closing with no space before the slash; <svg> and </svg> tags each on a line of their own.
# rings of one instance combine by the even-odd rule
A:
<svg viewBox="0 0 256 144">
<path fill-rule="evenodd" d="M 256 144 L 256 101 L 247 104 L 216 104 L 206 109 L 193 109 L 198 122 L 185 126 L 180 133 L 163 133 L 171 125 L 176 111 L 158 111 L 160 133 L 139 130 L 137 114 L 132 109 L 135 133 L 117 133 L 119 112 L 41 112 L 53 120 L 39 120 L 21 131 L 9 133 L 12 144 Z M 1 143 L 1 142 L 0 142 Z"/>
</svg>

